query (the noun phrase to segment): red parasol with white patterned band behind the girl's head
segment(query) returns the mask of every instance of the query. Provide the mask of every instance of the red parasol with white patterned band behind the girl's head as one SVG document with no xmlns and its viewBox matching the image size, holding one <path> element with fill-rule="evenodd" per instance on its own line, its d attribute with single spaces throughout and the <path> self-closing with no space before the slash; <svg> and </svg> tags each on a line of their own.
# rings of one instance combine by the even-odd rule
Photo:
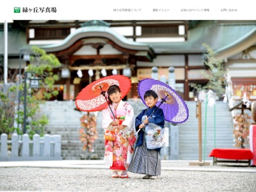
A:
<svg viewBox="0 0 256 192">
<path fill-rule="evenodd" d="M 76 106 L 80 111 L 100 111 L 108 106 L 107 98 L 109 86 L 116 84 L 119 86 L 122 98 L 131 89 L 131 79 L 121 75 L 107 76 L 93 83 L 88 84 L 76 97 Z"/>
</svg>

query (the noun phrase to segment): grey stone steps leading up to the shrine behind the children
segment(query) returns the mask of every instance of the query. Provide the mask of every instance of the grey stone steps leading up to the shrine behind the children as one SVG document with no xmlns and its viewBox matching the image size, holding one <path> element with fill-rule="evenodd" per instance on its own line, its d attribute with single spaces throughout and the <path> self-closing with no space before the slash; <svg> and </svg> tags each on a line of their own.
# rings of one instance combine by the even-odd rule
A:
<svg viewBox="0 0 256 192">
<path fill-rule="evenodd" d="M 145 105 L 141 100 L 128 101 L 134 108 L 134 115 L 140 114 Z M 189 109 L 189 118 L 179 126 L 179 159 L 198 159 L 198 118 L 196 118 L 196 104 L 186 101 Z M 74 110 L 74 101 L 48 101 L 42 106 L 42 114 L 49 118 L 49 125 L 45 127 L 45 133 L 61 135 L 61 157 L 67 160 L 78 160 L 83 158 L 104 157 L 104 140 L 102 129 L 102 112 L 97 113 L 98 139 L 93 143 L 94 152 L 88 155 L 83 151 L 83 143 L 79 140 L 79 119 L 86 113 Z M 205 103 L 202 102 L 202 150 L 204 152 L 204 121 Z M 207 129 L 205 156 L 214 148 L 214 113 L 213 108 L 207 108 Z M 166 127 L 170 124 L 166 122 Z M 169 126 L 170 127 L 170 126 Z M 228 111 L 227 104 L 216 102 L 216 148 L 233 148 L 233 125 L 232 116 Z M 172 155 L 172 154 L 171 154 Z M 212 159 L 206 157 L 206 159 Z"/>
</svg>

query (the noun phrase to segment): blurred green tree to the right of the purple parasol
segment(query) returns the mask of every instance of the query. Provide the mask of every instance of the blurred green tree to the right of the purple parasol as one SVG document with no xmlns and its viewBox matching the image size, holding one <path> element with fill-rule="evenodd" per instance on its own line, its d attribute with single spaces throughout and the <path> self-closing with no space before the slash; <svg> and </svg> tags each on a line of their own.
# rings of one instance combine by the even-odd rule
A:
<svg viewBox="0 0 256 192">
<path fill-rule="evenodd" d="M 192 88 L 195 88 L 198 92 L 212 90 L 216 96 L 220 97 L 225 93 L 225 76 L 227 71 L 223 61 L 216 60 L 216 52 L 207 44 L 202 44 L 206 49 L 204 63 L 209 67 L 209 71 L 202 71 L 202 75 L 208 79 L 208 83 L 205 86 L 202 84 L 190 83 Z"/>
</svg>

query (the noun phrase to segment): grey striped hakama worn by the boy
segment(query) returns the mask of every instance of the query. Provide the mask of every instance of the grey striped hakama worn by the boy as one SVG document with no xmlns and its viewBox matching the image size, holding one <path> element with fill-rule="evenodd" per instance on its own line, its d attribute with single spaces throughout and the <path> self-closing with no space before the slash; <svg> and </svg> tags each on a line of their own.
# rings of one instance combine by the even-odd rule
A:
<svg viewBox="0 0 256 192">
<path fill-rule="evenodd" d="M 143 145 L 135 148 L 128 172 L 155 176 L 161 175 L 160 154 L 156 150 L 148 150 L 145 143 L 144 140 Z"/>
</svg>

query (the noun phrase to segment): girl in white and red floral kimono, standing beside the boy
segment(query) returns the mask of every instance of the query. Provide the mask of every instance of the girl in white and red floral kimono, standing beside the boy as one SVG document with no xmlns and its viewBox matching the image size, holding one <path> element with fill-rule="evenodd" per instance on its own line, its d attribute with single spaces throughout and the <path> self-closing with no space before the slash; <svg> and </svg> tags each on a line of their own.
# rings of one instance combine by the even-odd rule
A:
<svg viewBox="0 0 256 192">
<path fill-rule="evenodd" d="M 135 118 L 133 108 L 121 100 L 119 86 L 112 85 L 108 88 L 109 107 L 102 112 L 102 127 L 104 131 L 115 131 L 115 141 L 105 140 L 104 163 L 110 166 L 112 178 L 128 178 L 127 168 L 131 162 L 135 143 Z M 118 172 L 121 172 L 119 175 Z"/>
</svg>

